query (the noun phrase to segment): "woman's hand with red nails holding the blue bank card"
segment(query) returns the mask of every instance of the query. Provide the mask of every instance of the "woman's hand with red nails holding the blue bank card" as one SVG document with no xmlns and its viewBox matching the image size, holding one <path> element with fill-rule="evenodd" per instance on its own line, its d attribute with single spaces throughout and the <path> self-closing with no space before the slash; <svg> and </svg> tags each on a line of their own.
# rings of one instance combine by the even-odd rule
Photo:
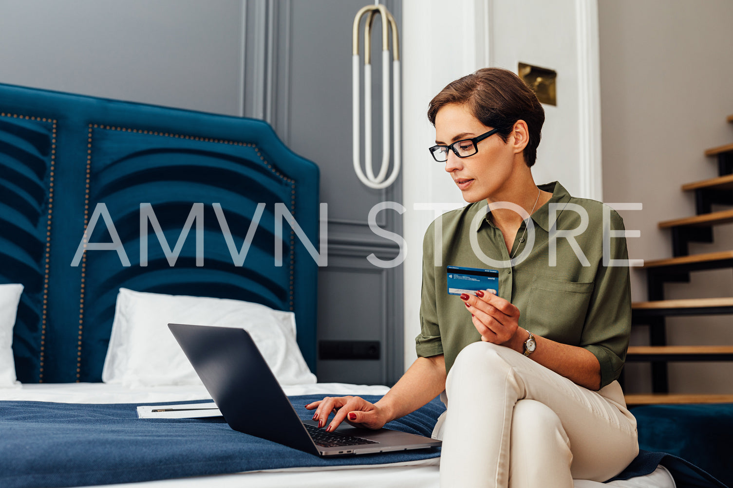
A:
<svg viewBox="0 0 733 488">
<path fill-rule="evenodd" d="M 474 327 L 481 334 L 481 340 L 511 347 L 522 352 L 524 339 L 519 327 L 519 308 L 508 300 L 494 295 L 493 290 L 479 290 L 476 296 L 460 296 L 471 313 Z"/>
</svg>

